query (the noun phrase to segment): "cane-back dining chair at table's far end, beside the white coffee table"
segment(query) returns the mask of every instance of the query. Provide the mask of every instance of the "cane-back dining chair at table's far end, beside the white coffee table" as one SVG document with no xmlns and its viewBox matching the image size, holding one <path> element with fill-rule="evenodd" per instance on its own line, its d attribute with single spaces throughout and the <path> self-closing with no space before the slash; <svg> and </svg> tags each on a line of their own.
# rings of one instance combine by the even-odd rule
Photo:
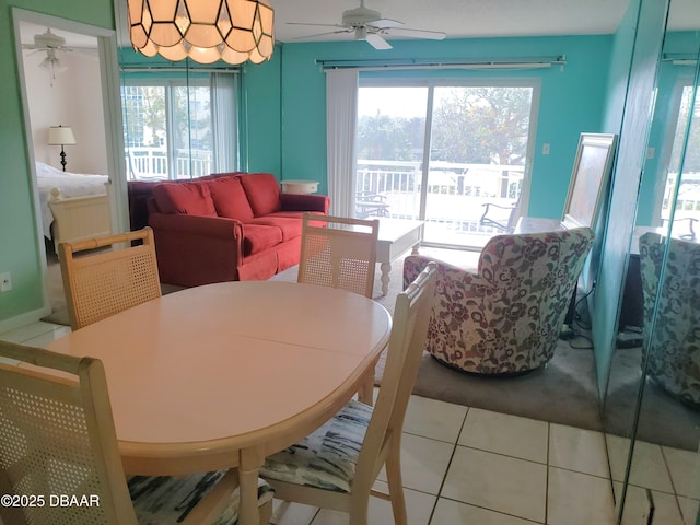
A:
<svg viewBox="0 0 700 525">
<path fill-rule="evenodd" d="M 372 299 L 378 220 L 304 213 L 298 282 Z"/>
</svg>

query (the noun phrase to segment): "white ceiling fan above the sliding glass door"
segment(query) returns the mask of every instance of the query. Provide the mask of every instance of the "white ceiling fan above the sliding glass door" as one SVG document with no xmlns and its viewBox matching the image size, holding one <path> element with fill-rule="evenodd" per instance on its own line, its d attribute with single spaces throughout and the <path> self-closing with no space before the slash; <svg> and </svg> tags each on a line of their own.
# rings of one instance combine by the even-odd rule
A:
<svg viewBox="0 0 700 525">
<path fill-rule="evenodd" d="M 406 38 L 424 38 L 430 40 L 442 40 L 445 33 L 440 31 L 412 30 L 404 27 L 404 23 L 398 20 L 383 19 L 378 11 L 373 11 L 364 7 L 364 0 L 360 0 L 360 7 L 343 11 L 340 24 L 314 24 L 304 22 L 288 22 L 290 25 L 310 25 L 317 27 L 336 27 L 335 31 L 304 36 L 298 39 L 315 38 L 318 36 L 336 35 L 341 33 L 354 33 L 355 40 L 365 40 L 375 49 L 392 49 L 392 45 L 386 42 L 387 36 L 399 36 Z"/>
</svg>

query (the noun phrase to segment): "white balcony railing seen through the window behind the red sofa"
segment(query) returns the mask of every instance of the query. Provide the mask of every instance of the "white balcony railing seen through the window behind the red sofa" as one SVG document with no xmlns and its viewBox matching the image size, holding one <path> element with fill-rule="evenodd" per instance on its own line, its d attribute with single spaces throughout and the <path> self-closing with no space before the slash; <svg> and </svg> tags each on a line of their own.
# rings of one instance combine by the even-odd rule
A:
<svg viewBox="0 0 700 525">
<path fill-rule="evenodd" d="M 175 180 L 212 173 L 213 153 L 208 150 L 176 150 L 174 173 L 163 148 L 129 148 L 126 162 L 130 180 Z"/>
</svg>

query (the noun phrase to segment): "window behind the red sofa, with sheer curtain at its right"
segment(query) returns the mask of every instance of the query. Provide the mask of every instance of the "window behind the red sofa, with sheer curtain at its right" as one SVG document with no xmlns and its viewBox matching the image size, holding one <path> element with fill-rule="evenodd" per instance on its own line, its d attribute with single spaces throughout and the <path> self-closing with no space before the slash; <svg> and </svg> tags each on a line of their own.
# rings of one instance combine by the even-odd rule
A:
<svg viewBox="0 0 700 525">
<path fill-rule="evenodd" d="M 121 86 L 129 179 L 188 179 L 236 170 L 233 74 L 139 77 L 127 78 Z M 226 82 L 215 77 L 230 79 Z M 223 97 L 229 100 L 223 103 Z M 219 106 L 228 110 L 215 115 L 218 98 Z M 218 144 L 225 144 L 226 151 L 218 151 L 223 149 Z"/>
</svg>

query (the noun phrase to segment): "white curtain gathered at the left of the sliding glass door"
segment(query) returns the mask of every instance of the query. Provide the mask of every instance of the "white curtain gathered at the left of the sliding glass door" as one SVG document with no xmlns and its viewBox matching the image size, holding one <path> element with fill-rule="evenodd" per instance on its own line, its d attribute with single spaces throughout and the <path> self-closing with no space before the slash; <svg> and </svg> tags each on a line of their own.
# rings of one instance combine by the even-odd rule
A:
<svg viewBox="0 0 700 525">
<path fill-rule="evenodd" d="M 330 213 L 354 215 L 358 70 L 326 71 L 326 142 Z"/>
</svg>

